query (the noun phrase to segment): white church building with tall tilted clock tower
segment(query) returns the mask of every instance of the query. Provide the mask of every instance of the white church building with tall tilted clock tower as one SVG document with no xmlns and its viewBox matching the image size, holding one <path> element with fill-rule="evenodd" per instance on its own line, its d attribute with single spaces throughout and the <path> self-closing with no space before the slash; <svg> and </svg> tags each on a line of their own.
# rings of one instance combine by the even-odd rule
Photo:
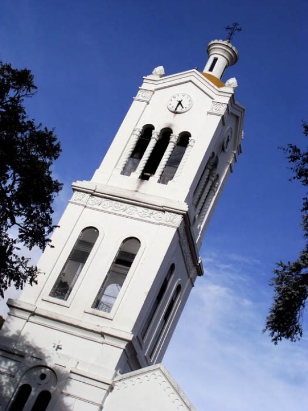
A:
<svg viewBox="0 0 308 411">
<path fill-rule="evenodd" d="M 38 284 L 7 303 L 0 411 L 195 410 L 161 361 L 244 118 L 221 80 L 237 49 L 207 51 L 202 72 L 144 77 L 93 178 L 72 184 Z"/>
</svg>

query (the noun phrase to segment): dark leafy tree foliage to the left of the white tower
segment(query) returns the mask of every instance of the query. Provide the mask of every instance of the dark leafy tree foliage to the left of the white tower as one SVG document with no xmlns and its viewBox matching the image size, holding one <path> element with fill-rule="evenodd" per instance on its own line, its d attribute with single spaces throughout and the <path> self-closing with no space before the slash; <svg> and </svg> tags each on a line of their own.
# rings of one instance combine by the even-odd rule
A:
<svg viewBox="0 0 308 411">
<path fill-rule="evenodd" d="M 62 184 L 51 165 L 61 152 L 54 130 L 35 124 L 24 100 L 37 87 L 27 69 L 0 61 L 0 295 L 36 282 L 37 269 L 18 255 L 20 246 L 44 250 L 54 229 L 52 201 Z"/>
</svg>

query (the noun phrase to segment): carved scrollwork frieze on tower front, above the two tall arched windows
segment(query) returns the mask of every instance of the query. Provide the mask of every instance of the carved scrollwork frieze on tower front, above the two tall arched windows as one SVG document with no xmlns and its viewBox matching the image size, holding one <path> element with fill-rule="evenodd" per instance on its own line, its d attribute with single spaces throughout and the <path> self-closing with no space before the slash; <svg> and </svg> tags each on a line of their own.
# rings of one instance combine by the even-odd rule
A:
<svg viewBox="0 0 308 411">
<path fill-rule="evenodd" d="M 87 200 L 85 196 L 87 195 Z M 139 220 L 151 221 L 171 227 L 178 227 L 182 220 L 181 214 L 170 213 L 169 211 L 151 210 L 145 207 L 132 206 L 122 201 L 114 201 L 104 197 L 91 196 L 79 191 L 74 192 L 71 202 L 86 204 L 91 208 L 104 210 L 112 214 L 133 217 Z"/>
</svg>

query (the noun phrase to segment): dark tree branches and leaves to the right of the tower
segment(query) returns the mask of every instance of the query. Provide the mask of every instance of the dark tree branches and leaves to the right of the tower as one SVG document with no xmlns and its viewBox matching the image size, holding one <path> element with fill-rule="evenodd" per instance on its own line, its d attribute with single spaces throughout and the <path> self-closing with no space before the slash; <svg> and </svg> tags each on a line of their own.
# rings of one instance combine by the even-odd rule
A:
<svg viewBox="0 0 308 411">
<path fill-rule="evenodd" d="M 303 122 L 303 134 L 308 137 L 308 123 Z M 302 151 L 294 144 L 280 147 L 293 172 L 291 180 L 308 186 L 308 150 Z M 303 198 L 302 228 L 308 238 L 308 198 Z M 280 261 L 274 270 L 275 277 L 269 283 L 275 288 L 274 301 L 266 317 L 264 331 L 268 331 L 274 344 L 283 338 L 298 341 L 302 337 L 302 320 L 308 297 L 308 244 L 299 258 L 287 264 Z"/>
</svg>

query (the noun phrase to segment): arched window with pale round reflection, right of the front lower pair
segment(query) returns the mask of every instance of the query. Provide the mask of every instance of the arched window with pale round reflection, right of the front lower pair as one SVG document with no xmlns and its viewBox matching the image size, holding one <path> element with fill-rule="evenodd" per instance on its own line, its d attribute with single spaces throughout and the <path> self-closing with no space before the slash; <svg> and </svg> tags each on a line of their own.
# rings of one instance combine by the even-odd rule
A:
<svg viewBox="0 0 308 411">
<path fill-rule="evenodd" d="M 140 241 L 137 238 L 126 238 L 122 242 L 92 308 L 111 311 L 139 248 Z"/>
</svg>

